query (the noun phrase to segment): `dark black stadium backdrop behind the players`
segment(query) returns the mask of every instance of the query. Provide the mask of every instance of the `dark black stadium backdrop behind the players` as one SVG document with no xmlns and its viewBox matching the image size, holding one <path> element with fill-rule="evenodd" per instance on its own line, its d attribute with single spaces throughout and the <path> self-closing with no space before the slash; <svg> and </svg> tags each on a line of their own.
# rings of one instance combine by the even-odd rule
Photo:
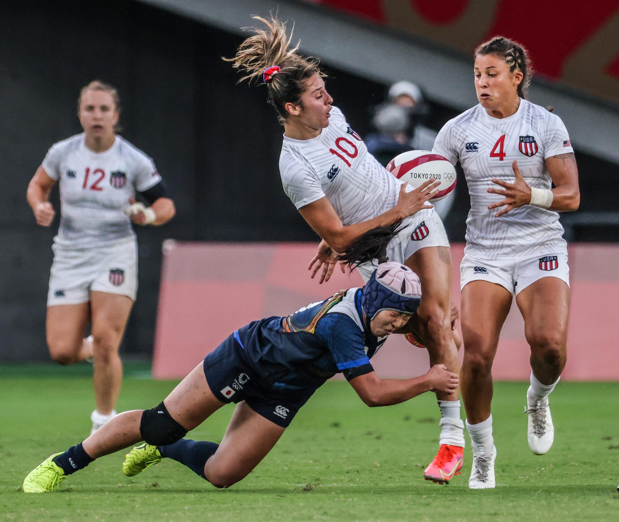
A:
<svg viewBox="0 0 619 522">
<path fill-rule="evenodd" d="M 118 87 L 121 134 L 154 158 L 177 208 L 168 225 L 137 230 L 139 297 L 125 356 L 152 351 L 163 239 L 318 241 L 282 190 L 283 129 L 265 103 L 266 89 L 237 85 L 230 64 L 219 59 L 240 41 L 134 1 L 0 2 L 0 362 L 48 360 L 45 303 L 58 189 L 51 228 L 35 225 L 25 194 L 48 148 L 81 132 L 76 98 L 90 80 Z M 383 101 L 387 85 L 328 61 L 326 70 L 334 105 L 367 134 L 370 108 Z M 431 105 L 428 125 L 436 130 L 460 112 Z M 617 210 L 617 165 L 576 153 L 579 212 Z M 462 176 L 459 184 L 445 223 L 451 241 L 464 239 L 469 207 Z M 574 234 L 577 241 L 618 241 L 619 227 L 581 226 Z M 248 298 L 240 295 L 240 306 Z"/>
</svg>

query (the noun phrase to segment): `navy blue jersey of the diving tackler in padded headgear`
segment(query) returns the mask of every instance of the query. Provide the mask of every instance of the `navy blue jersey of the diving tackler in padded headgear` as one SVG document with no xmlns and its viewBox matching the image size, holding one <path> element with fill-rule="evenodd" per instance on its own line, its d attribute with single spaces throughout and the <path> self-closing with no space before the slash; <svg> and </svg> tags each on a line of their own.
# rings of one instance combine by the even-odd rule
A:
<svg viewBox="0 0 619 522">
<path fill-rule="evenodd" d="M 318 388 L 339 372 L 351 380 L 374 371 L 370 358 L 387 339 L 366 330 L 360 296 L 360 288 L 342 290 L 287 317 L 249 323 L 233 335 L 266 387 Z"/>
</svg>

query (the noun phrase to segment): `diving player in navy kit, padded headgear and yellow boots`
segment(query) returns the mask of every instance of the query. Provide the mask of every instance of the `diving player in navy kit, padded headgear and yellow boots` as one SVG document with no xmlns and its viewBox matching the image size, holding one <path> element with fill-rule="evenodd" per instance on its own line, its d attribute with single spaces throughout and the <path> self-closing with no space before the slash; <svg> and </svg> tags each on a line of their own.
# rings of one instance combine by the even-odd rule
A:
<svg viewBox="0 0 619 522">
<path fill-rule="evenodd" d="M 25 478 L 24 492 L 54 490 L 93 460 L 141 440 L 126 455 L 126 476 L 171 458 L 215 487 L 232 486 L 271 451 L 314 391 L 340 372 L 368 406 L 402 403 L 425 391 L 448 393 L 459 380 L 442 364 L 397 380 L 379 379 L 370 363 L 388 335 L 410 331 L 420 299 L 417 275 L 388 262 L 363 288 L 342 290 L 287 317 L 251 322 L 155 408 L 121 413 L 84 442 L 48 457 Z M 184 439 L 228 403 L 236 408 L 219 445 Z"/>
</svg>

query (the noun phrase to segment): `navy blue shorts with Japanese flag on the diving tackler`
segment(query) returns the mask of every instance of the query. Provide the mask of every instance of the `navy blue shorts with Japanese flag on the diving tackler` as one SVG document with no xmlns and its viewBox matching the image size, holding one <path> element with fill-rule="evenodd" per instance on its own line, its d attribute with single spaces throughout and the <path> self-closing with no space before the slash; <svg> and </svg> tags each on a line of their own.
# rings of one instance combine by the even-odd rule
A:
<svg viewBox="0 0 619 522">
<path fill-rule="evenodd" d="M 243 330 L 243 328 L 241 328 Z M 271 422 L 287 428 L 301 406 L 313 395 L 306 390 L 274 390 L 261 382 L 261 377 L 243 356 L 238 330 L 204 357 L 204 375 L 213 395 L 224 403 L 245 401 L 249 408 Z"/>
</svg>

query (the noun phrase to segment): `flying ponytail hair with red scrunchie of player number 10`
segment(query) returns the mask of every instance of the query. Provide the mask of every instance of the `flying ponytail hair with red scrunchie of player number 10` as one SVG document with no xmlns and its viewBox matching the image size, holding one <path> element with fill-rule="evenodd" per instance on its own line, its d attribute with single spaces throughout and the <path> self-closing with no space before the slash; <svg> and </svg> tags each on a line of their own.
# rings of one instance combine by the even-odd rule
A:
<svg viewBox="0 0 619 522">
<path fill-rule="evenodd" d="M 320 69 L 318 58 L 303 58 L 297 54 L 299 43 L 292 45 L 292 30 L 288 36 L 285 22 L 276 17 L 264 19 L 254 16 L 266 25 L 265 29 L 245 27 L 253 32 L 236 51 L 233 58 L 223 58 L 232 62 L 235 69 L 245 72 L 239 82 L 262 79 L 267 84 L 267 102 L 275 108 L 279 121 L 283 124 L 289 114 L 286 104 L 303 106 L 301 96 L 305 92 L 304 80 L 314 74 L 325 76 Z"/>
</svg>

